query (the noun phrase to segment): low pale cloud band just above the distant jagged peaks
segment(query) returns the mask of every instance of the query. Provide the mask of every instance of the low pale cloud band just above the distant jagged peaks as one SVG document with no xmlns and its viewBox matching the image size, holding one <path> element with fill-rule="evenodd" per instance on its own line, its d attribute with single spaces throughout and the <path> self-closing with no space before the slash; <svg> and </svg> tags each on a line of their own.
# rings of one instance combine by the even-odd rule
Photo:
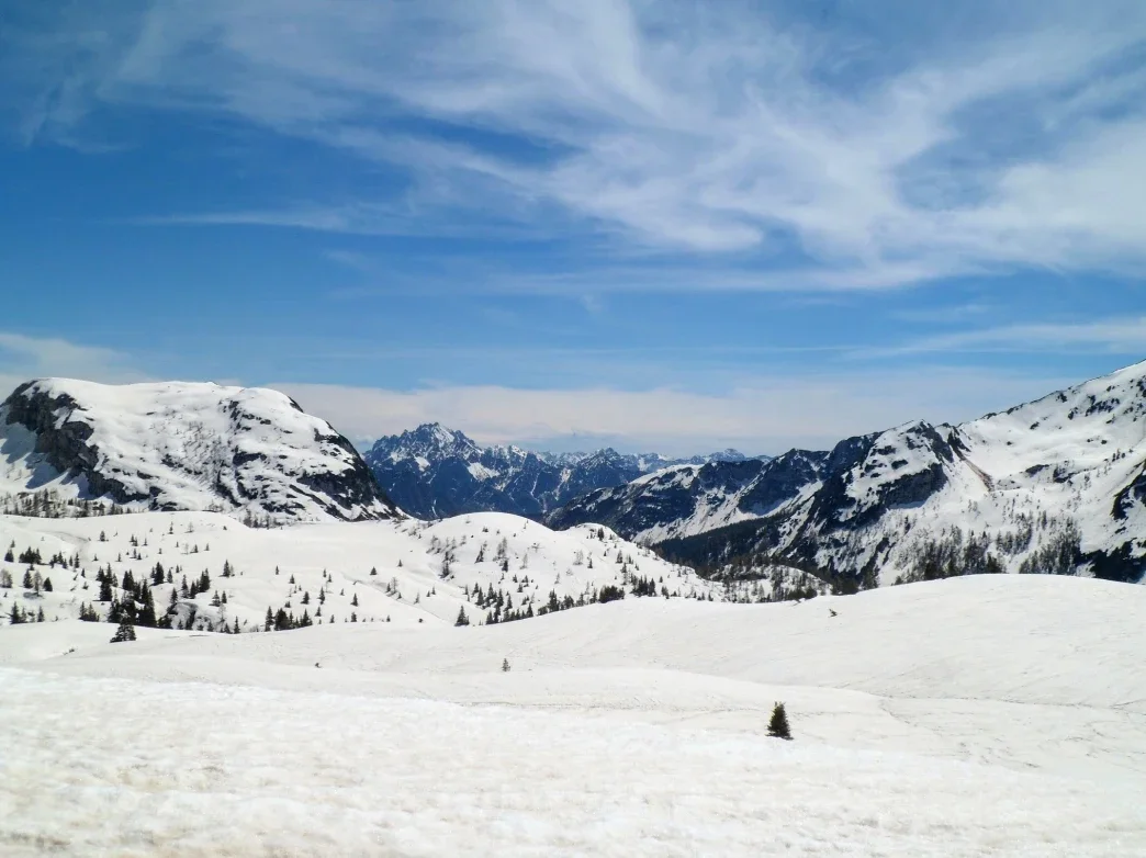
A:
<svg viewBox="0 0 1146 858">
<path fill-rule="evenodd" d="M 1077 379 L 1074 379 L 1077 380 Z M 756 378 L 720 394 L 672 388 L 526 389 L 496 385 L 393 391 L 276 383 L 356 440 L 440 422 L 484 442 L 575 447 L 607 439 L 670 454 L 735 446 L 779 452 L 910 419 L 964 420 L 1035 399 L 1069 379 L 974 369 Z"/>
</svg>

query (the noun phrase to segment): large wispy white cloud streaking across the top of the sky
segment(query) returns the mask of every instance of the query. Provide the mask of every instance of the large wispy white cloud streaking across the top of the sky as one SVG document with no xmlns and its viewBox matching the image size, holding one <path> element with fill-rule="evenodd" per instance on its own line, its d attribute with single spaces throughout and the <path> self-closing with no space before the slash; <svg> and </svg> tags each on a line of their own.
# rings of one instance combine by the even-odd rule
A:
<svg viewBox="0 0 1146 858">
<path fill-rule="evenodd" d="M 131 8 L 9 46 L 29 139 L 125 103 L 209 110 L 410 178 L 397 215 L 355 200 L 182 222 L 559 221 L 614 257 L 729 260 L 691 289 L 1146 270 L 1141 3 L 981 3 L 975 29 L 882 3 L 919 29 L 863 38 L 737 2 Z"/>
</svg>

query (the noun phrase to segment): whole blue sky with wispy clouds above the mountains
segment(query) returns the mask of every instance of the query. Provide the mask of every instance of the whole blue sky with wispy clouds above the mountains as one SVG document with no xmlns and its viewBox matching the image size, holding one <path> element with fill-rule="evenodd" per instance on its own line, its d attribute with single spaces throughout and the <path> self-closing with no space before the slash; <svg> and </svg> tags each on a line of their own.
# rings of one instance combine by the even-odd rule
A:
<svg viewBox="0 0 1146 858">
<path fill-rule="evenodd" d="M 5 386 L 775 452 L 1146 357 L 1141 2 L 0 18 Z"/>
</svg>

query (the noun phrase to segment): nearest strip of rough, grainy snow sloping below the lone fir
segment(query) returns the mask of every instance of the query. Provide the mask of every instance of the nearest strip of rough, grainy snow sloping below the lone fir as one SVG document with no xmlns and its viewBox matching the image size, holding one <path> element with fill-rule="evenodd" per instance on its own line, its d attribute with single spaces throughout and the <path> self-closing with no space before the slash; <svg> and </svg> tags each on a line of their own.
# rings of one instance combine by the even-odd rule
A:
<svg viewBox="0 0 1146 858">
<path fill-rule="evenodd" d="M 440 701 L 0 675 L 6 855 L 1046 857 L 1146 845 L 1146 813 L 1124 792 L 948 761 Z"/>
</svg>

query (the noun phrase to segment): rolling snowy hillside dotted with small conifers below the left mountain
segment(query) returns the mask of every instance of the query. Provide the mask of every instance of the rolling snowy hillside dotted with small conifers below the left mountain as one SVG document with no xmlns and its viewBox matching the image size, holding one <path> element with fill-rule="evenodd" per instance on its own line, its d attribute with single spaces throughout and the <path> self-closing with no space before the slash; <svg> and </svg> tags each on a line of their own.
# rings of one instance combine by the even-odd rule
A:
<svg viewBox="0 0 1146 858">
<path fill-rule="evenodd" d="M 203 512 L 0 515 L 0 549 L 9 546 L 14 561 L 0 562 L 0 575 L 7 572 L 14 587 L 0 588 L 0 614 L 7 617 L 15 603 L 32 615 L 42 609 L 48 621 L 78 617 L 85 604 L 108 616 L 110 603 L 97 600 L 96 573 L 110 567 L 117 583 L 110 596 L 120 599 L 125 573 L 150 581 L 157 564 L 164 572 L 164 583 L 151 587 L 158 615 L 173 605 L 179 628 L 234 629 L 237 622 L 244 632 L 261 629 L 268 608 L 296 620 L 305 612 L 316 624 L 353 619 L 400 627 L 453 625 L 464 609 L 479 623 L 548 611 L 554 598 L 563 608 L 592 601 L 604 587 L 633 598 L 641 578 L 656 578 L 658 597 L 664 588 L 670 597 L 720 598 L 720 588 L 691 569 L 610 530 L 583 526 L 556 533 L 505 513 L 432 525 L 387 519 L 280 528 L 251 528 Z M 50 592 L 21 587 L 29 566 L 18 558 L 29 549 L 39 551 L 42 562 L 31 572 L 50 578 Z M 49 565 L 55 556 L 68 566 Z M 223 576 L 225 566 L 234 569 L 231 576 Z M 185 595 L 183 580 L 194 583 L 203 572 L 207 590 Z M 212 604 L 217 597 L 219 604 Z"/>
</svg>

